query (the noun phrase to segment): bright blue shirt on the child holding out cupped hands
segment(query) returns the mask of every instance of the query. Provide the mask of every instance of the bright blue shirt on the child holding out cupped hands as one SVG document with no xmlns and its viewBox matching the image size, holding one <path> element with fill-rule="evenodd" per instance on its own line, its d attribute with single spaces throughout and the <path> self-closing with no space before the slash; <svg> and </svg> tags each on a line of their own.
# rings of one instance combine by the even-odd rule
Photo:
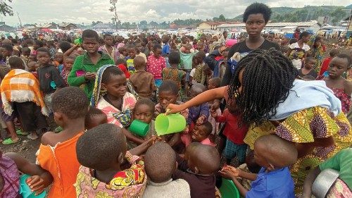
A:
<svg viewBox="0 0 352 198">
<path fill-rule="evenodd" d="M 262 167 L 257 179 L 252 182 L 251 190 L 246 193 L 246 198 L 250 197 L 294 198 L 294 180 L 289 168 L 265 173 L 265 168 Z"/>
</svg>

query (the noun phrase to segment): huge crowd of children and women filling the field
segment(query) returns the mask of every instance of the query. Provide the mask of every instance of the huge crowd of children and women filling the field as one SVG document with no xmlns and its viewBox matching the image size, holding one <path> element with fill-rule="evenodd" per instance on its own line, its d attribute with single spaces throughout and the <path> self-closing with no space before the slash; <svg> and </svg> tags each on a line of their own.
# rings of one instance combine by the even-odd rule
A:
<svg viewBox="0 0 352 198">
<path fill-rule="evenodd" d="M 271 14 L 248 6 L 236 42 L 94 30 L 4 39 L 1 142 L 41 140 L 36 163 L 0 151 L 0 197 L 18 197 L 20 173 L 47 197 L 221 197 L 222 178 L 241 197 L 312 197 L 328 168 L 339 171 L 328 196 L 352 197 L 352 51 L 309 32 L 275 42 L 261 33 Z M 161 113 L 186 128 L 158 136 Z"/>
</svg>

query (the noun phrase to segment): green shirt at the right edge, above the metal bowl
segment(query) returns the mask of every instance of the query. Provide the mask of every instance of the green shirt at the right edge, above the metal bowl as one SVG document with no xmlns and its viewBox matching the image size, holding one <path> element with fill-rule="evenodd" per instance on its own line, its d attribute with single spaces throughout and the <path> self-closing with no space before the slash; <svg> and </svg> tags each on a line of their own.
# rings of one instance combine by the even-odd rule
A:
<svg viewBox="0 0 352 198">
<path fill-rule="evenodd" d="M 320 171 L 332 168 L 339 171 L 339 178 L 352 190 L 352 148 L 342 149 L 319 165 Z"/>
</svg>

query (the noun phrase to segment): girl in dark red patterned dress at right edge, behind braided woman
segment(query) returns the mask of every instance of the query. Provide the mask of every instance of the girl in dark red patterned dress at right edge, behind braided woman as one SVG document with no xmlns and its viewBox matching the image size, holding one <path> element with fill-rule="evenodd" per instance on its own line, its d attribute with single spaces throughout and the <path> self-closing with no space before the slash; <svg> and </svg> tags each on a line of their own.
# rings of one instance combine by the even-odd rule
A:
<svg viewBox="0 0 352 198">
<path fill-rule="evenodd" d="M 335 97 L 340 99 L 342 111 L 348 113 L 351 106 L 352 82 L 346 80 L 341 75 L 348 71 L 351 65 L 351 58 L 347 54 L 337 54 L 329 63 L 327 77 L 320 77 L 327 83 L 327 87 L 332 89 Z"/>
</svg>

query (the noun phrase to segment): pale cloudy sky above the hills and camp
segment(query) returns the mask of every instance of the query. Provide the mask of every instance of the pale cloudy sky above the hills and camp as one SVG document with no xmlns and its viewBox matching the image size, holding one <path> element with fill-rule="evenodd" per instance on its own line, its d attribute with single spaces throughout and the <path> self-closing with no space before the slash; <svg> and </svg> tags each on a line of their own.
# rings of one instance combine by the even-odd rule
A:
<svg viewBox="0 0 352 198">
<path fill-rule="evenodd" d="M 1 0 L 3 1 L 3 0 Z M 6 1 L 6 0 L 5 0 Z M 203 19 L 224 14 L 226 18 L 234 18 L 243 13 L 246 6 L 256 0 L 118 0 L 118 19 L 121 22 L 139 22 L 151 20 L 156 22 L 170 21 L 180 18 Z M 260 1 L 270 7 L 287 6 L 348 6 L 342 0 L 266 0 Z M 103 21 L 108 23 L 113 14 L 108 11 L 109 0 L 13 0 L 14 16 L 3 16 L 7 25 L 19 25 L 17 13 L 22 24 L 26 23 L 84 23 Z"/>
</svg>

